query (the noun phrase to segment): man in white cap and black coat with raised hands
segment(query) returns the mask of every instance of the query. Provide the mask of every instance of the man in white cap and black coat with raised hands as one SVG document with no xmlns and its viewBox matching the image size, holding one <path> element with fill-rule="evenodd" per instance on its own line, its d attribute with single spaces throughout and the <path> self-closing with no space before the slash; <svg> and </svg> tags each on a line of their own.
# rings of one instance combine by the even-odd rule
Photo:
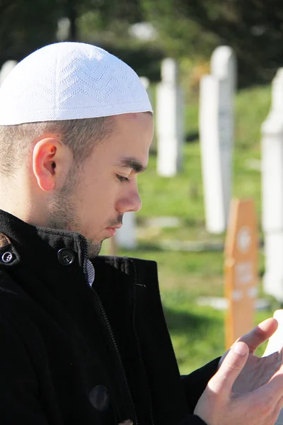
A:
<svg viewBox="0 0 283 425">
<path fill-rule="evenodd" d="M 98 256 L 141 208 L 152 136 L 137 74 L 98 47 L 43 47 L 1 86 L 1 425 L 274 424 L 282 353 L 253 356 L 274 319 L 180 378 L 156 264 Z"/>
</svg>

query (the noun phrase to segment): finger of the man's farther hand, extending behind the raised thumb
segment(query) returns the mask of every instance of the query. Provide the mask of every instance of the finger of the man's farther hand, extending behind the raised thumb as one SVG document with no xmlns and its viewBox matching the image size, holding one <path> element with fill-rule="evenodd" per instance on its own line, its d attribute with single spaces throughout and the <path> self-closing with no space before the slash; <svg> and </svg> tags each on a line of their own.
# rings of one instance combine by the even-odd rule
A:
<svg viewBox="0 0 283 425">
<path fill-rule="evenodd" d="M 263 342 L 275 333 L 277 327 L 277 320 L 274 317 L 270 317 L 258 324 L 248 334 L 241 336 L 238 341 L 245 342 L 250 349 L 250 353 L 254 353 Z"/>
</svg>

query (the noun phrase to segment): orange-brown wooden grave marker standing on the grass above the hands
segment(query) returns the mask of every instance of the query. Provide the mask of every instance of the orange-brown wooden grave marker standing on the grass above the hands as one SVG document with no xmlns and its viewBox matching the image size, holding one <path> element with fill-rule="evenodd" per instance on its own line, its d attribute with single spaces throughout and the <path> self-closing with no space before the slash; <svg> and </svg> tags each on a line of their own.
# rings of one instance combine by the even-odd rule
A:
<svg viewBox="0 0 283 425">
<path fill-rule="evenodd" d="M 229 348 L 254 326 L 258 290 L 258 227 L 253 200 L 231 201 L 224 278 L 229 306 L 225 340 L 226 348 Z"/>
</svg>

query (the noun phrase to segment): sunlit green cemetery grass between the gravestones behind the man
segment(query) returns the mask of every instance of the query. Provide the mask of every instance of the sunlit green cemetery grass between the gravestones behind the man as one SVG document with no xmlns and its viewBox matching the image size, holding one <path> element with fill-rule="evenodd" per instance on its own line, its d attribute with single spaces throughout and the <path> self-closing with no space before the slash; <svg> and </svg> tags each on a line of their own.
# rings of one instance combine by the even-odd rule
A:
<svg viewBox="0 0 283 425">
<path fill-rule="evenodd" d="M 245 89 L 236 97 L 233 196 L 255 200 L 259 229 L 260 126 L 270 110 L 270 99 L 270 86 Z M 207 234 L 204 227 L 197 96 L 190 98 L 186 114 L 183 169 L 175 178 L 158 177 L 156 155 L 151 155 L 147 171 L 138 177 L 143 201 L 137 213 L 139 248 L 118 251 L 119 255 L 157 261 L 161 298 L 181 373 L 224 353 L 225 316 L 224 311 L 197 304 L 199 297 L 224 295 L 224 235 Z M 161 217 L 174 218 L 164 221 Z M 105 243 L 103 254 L 107 249 Z M 261 277 L 262 251 L 258 270 Z M 257 323 L 279 307 L 269 300 L 270 310 L 257 312 Z M 261 348 L 258 353 L 263 351 Z"/>
</svg>

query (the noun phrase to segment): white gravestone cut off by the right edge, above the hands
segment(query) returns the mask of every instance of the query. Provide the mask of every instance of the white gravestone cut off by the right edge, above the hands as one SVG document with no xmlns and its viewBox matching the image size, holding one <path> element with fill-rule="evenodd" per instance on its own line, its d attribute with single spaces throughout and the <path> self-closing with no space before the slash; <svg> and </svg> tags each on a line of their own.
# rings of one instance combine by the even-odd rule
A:
<svg viewBox="0 0 283 425">
<path fill-rule="evenodd" d="M 262 124 L 263 288 L 283 302 L 283 68 L 272 81 L 272 106 Z"/>
</svg>

